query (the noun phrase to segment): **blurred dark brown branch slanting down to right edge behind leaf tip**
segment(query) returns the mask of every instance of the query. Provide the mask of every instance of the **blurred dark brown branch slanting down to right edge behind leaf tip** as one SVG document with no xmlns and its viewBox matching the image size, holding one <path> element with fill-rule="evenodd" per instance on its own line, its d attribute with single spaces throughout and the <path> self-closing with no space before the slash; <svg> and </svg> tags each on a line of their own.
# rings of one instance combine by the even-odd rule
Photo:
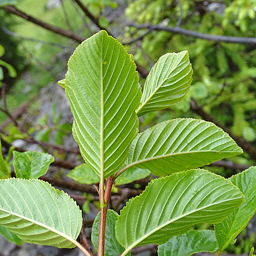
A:
<svg viewBox="0 0 256 256">
<path fill-rule="evenodd" d="M 226 133 L 229 134 L 230 137 L 233 138 L 237 144 L 243 148 L 245 152 L 253 159 L 256 160 L 256 148 L 253 147 L 249 142 L 245 141 L 243 138 L 233 134 L 226 126 L 217 121 L 213 116 L 205 112 L 201 106 L 198 106 L 194 100 L 190 100 L 191 110 L 193 110 L 196 114 L 201 116 L 205 121 L 209 121 L 215 123 L 217 126 L 221 127 Z"/>
</svg>

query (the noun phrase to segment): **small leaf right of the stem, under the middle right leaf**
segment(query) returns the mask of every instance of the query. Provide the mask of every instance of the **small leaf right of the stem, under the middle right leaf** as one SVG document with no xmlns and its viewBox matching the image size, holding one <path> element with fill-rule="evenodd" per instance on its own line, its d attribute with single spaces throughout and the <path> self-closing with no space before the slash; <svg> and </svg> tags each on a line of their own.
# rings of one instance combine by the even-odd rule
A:
<svg viewBox="0 0 256 256">
<path fill-rule="evenodd" d="M 144 179 L 148 176 L 150 176 L 150 171 L 148 169 L 140 169 L 136 166 L 133 166 L 125 170 L 124 173 L 118 176 L 117 179 L 115 180 L 115 184 L 116 185 L 128 184 L 135 180 Z"/>
</svg>

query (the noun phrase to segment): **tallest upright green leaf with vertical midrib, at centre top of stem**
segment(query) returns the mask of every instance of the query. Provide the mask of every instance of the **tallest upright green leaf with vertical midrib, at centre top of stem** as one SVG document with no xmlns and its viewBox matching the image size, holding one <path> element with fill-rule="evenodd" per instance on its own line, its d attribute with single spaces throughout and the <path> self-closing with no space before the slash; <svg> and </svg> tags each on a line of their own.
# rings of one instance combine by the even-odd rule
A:
<svg viewBox="0 0 256 256">
<path fill-rule="evenodd" d="M 138 133 L 141 89 L 132 57 L 116 39 L 98 32 L 70 57 L 66 93 L 84 160 L 104 178 L 111 176 Z"/>
</svg>

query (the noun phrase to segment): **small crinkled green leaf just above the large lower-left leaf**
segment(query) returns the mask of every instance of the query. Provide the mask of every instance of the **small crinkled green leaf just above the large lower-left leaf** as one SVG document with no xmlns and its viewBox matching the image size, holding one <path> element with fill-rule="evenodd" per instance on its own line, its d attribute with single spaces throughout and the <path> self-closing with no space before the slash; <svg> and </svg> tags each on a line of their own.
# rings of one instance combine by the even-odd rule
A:
<svg viewBox="0 0 256 256">
<path fill-rule="evenodd" d="M 13 151 L 13 166 L 17 178 L 37 179 L 47 173 L 54 157 L 47 153 Z"/>
</svg>

